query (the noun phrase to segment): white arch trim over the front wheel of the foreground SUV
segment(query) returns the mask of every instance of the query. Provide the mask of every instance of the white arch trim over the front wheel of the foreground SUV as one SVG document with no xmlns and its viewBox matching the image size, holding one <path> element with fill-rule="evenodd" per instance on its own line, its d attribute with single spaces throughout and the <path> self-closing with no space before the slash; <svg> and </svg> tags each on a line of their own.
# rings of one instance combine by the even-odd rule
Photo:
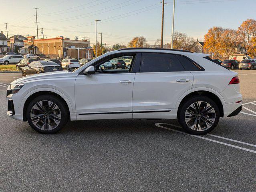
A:
<svg viewBox="0 0 256 192">
<path fill-rule="evenodd" d="M 23 98 L 21 105 L 20 105 L 20 112 L 22 112 L 23 114 L 23 120 L 26 121 L 26 109 L 28 106 L 28 103 L 33 100 L 34 98 L 36 98 L 37 96 L 40 95 L 53 95 L 56 96 L 57 98 L 59 98 L 60 100 L 62 100 L 64 102 L 64 104 L 67 106 L 68 109 L 68 114 L 69 117 L 71 118 L 71 120 L 76 120 L 76 117 L 74 117 L 73 115 L 71 116 L 71 114 L 73 114 L 74 110 L 72 108 L 72 105 L 70 103 L 70 101 L 68 100 L 67 97 L 65 97 L 65 95 L 63 95 L 61 92 L 58 92 L 58 90 L 54 90 L 54 89 L 44 89 L 44 90 L 33 90 L 32 92 L 26 94 L 26 96 Z"/>
</svg>

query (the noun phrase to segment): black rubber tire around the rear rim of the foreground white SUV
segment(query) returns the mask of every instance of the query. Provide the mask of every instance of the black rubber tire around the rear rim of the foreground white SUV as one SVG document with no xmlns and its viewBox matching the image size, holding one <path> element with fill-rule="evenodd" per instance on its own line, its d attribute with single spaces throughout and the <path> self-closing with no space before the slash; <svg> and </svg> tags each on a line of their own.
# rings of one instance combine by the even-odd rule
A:
<svg viewBox="0 0 256 192">
<path fill-rule="evenodd" d="M 214 122 L 212 123 L 212 126 L 210 126 L 209 128 L 208 128 L 208 126 L 206 126 L 207 128 L 206 129 L 202 129 L 201 131 L 192 130 L 192 128 L 190 128 L 187 125 L 187 123 L 185 122 L 185 112 L 189 108 L 189 106 L 191 104 L 195 103 L 195 102 L 207 102 L 208 104 L 210 104 L 212 106 L 212 108 L 215 111 L 215 115 L 214 115 L 215 119 L 214 119 Z M 204 110 L 204 109 L 202 109 L 202 110 Z M 199 116 L 201 116 L 202 114 L 203 113 L 200 112 L 200 113 L 198 113 L 195 116 L 200 118 Z M 206 123 L 204 123 L 205 122 L 204 120 L 206 120 L 206 118 L 204 118 L 204 117 L 201 117 L 201 118 L 200 118 L 199 124 L 201 124 L 201 126 L 203 128 L 204 124 L 206 125 Z M 179 124 L 181 124 L 181 126 L 187 132 L 189 132 L 190 134 L 204 135 L 204 134 L 207 134 L 207 133 L 211 132 L 216 127 L 216 125 L 218 124 L 219 119 L 220 119 L 220 110 L 219 110 L 217 104 L 212 99 L 210 99 L 210 98 L 208 98 L 206 96 L 193 96 L 191 98 L 188 98 L 185 102 L 181 103 L 181 106 L 179 106 L 179 110 L 178 110 L 178 114 L 177 114 L 177 119 L 179 121 Z M 194 120 L 196 120 L 196 118 L 191 118 L 191 122 L 194 122 Z"/>
</svg>

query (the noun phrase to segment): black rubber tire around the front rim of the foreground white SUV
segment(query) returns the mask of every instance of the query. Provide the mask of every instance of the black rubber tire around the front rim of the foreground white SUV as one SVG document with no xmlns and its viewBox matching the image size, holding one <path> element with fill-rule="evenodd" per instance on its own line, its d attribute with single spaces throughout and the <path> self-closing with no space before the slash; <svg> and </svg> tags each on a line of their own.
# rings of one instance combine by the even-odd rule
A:
<svg viewBox="0 0 256 192">
<path fill-rule="evenodd" d="M 37 126 L 35 126 L 31 120 L 30 117 L 30 112 L 33 108 L 33 106 L 40 101 L 50 101 L 53 102 L 54 104 L 56 104 L 56 106 L 59 108 L 60 113 L 61 113 L 61 118 L 60 118 L 60 122 L 58 124 L 58 126 L 56 126 L 55 128 L 53 128 L 52 130 L 42 130 L 40 128 L 38 128 Z M 56 132 L 58 132 L 61 128 L 63 128 L 68 120 L 69 120 L 69 114 L 68 114 L 68 110 L 65 106 L 65 104 L 57 97 L 55 96 L 50 96 L 50 95 L 41 95 L 38 96 L 36 98 L 34 98 L 29 104 L 28 104 L 28 108 L 26 110 L 26 118 L 28 120 L 28 124 L 37 132 L 42 133 L 42 134 L 54 134 Z M 43 120 L 41 120 L 43 121 Z M 38 121 L 39 122 L 39 121 Z"/>
</svg>

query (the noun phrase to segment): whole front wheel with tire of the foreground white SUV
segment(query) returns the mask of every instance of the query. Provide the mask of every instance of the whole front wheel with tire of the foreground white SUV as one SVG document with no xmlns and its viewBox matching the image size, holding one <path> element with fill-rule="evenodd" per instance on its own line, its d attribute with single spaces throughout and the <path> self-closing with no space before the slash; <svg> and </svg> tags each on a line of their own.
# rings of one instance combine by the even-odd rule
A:
<svg viewBox="0 0 256 192">
<path fill-rule="evenodd" d="M 34 98 L 26 110 L 28 124 L 37 132 L 53 134 L 64 127 L 68 120 L 68 110 L 55 96 L 42 95 Z"/>
</svg>

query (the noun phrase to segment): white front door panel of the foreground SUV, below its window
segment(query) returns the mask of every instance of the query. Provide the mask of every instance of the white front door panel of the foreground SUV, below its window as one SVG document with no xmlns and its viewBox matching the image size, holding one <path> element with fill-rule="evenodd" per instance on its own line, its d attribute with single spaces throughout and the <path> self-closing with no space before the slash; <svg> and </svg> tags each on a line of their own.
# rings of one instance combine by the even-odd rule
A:
<svg viewBox="0 0 256 192">
<path fill-rule="evenodd" d="M 99 68 L 97 66 L 110 59 L 106 56 L 104 61 L 93 63 L 93 66 Z M 132 118 L 134 77 L 134 70 L 113 68 L 106 73 L 78 75 L 75 81 L 77 120 Z"/>
</svg>

